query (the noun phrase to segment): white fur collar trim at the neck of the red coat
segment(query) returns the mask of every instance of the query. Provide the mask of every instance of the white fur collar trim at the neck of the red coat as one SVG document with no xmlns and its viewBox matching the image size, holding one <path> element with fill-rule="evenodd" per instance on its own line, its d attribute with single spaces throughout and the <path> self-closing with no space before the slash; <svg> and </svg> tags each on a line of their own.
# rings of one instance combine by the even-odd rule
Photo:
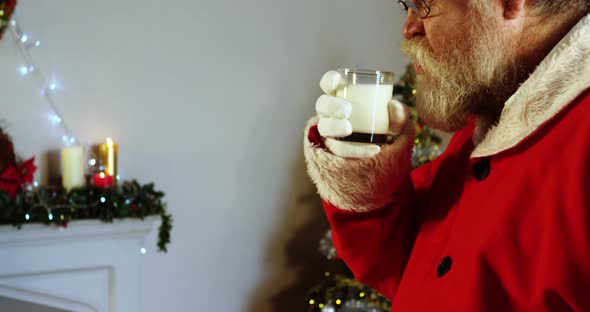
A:
<svg viewBox="0 0 590 312">
<path fill-rule="evenodd" d="M 471 157 L 516 146 L 590 86 L 590 15 L 585 16 L 506 102 L 500 121 Z"/>
</svg>

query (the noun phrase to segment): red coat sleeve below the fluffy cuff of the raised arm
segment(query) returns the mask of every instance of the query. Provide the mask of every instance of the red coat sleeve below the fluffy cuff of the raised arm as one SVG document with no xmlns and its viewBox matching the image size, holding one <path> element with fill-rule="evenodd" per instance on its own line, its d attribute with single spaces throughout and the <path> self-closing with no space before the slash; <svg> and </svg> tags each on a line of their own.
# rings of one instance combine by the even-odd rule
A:
<svg viewBox="0 0 590 312">
<path fill-rule="evenodd" d="M 395 202 L 369 212 L 349 212 L 323 201 L 338 257 L 364 284 L 392 299 L 416 239 L 418 223 L 409 180 Z"/>
</svg>

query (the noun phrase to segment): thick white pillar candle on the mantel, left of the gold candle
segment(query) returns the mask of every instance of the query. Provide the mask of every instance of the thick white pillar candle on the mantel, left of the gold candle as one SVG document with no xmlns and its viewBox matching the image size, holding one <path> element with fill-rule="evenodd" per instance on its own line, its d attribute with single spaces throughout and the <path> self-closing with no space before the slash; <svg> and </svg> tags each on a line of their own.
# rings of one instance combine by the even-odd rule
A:
<svg viewBox="0 0 590 312">
<path fill-rule="evenodd" d="M 86 184 L 82 146 L 69 146 L 61 150 L 61 181 L 67 190 Z"/>
</svg>

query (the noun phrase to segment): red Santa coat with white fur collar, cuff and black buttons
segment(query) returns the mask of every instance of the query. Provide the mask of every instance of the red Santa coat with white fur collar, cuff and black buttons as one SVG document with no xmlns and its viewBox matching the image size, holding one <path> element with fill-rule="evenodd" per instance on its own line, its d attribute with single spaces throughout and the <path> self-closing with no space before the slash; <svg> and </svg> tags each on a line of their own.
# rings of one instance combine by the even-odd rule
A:
<svg viewBox="0 0 590 312">
<path fill-rule="evenodd" d="M 474 145 L 457 132 L 408 173 L 411 140 L 370 159 L 321 148 L 308 172 L 338 255 L 392 311 L 590 311 L 590 17 Z"/>
</svg>

